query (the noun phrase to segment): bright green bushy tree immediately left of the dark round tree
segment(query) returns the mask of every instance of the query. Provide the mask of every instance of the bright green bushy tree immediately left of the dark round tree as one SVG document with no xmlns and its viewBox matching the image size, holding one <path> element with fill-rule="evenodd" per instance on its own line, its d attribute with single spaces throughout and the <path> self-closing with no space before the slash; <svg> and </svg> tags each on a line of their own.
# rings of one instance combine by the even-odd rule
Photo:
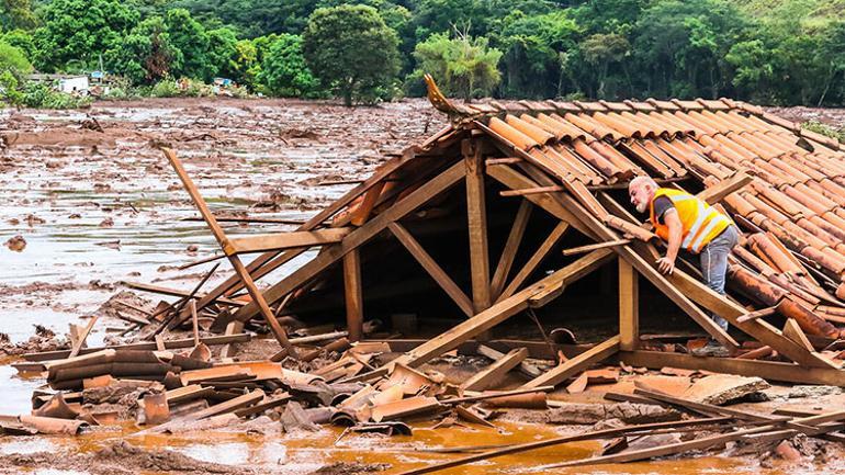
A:
<svg viewBox="0 0 845 475">
<path fill-rule="evenodd" d="M 318 81 L 305 65 L 302 37 L 286 33 L 279 35 L 270 45 L 261 61 L 258 79 L 272 95 L 308 95 L 318 87 Z"/>
</svg>

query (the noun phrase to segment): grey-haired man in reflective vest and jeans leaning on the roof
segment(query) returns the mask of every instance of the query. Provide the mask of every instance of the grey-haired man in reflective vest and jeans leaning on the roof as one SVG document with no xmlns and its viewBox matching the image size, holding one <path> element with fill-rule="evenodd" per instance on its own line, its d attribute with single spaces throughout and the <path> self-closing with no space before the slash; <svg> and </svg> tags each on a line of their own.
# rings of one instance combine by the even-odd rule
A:
<svg viewBox="0 0 845 475">
<path fill-rule="evenodd" d="M 631 180 L 628 194 L 638 212 L 649 212 L 655 234 L 666 241 L 666 256 L 657 259 L 657 269 L 664 274 L 671 274 L 675 270 L 675 260 L 680 249 L 698 255 L 705 283 L 724 295 L 728 255 L 740 239 L 740 233 L 731 218 L 689 193 L 658 188 L 649 177 Z M 717 315 L 711 318 L 728 330 L 724 318 Z M 703 349 L 692 353 L 726 355 L 728 350 L 716 340 L 710 340 Z"/>
</svg>

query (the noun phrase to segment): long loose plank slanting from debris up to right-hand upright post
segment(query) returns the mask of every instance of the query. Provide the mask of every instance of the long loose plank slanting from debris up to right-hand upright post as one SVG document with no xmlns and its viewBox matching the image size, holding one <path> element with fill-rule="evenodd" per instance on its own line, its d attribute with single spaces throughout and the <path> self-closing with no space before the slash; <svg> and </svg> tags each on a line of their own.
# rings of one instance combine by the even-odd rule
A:
<svg viewBox="0 0 845 475">
<path fill-rule="evenodd" d="M 395 362 L 406 366 L 416 367 L 435 357 L 452 350 L 462 342 L 489 330 L 494 326 L 528 308 L 528 299 L 537 293 L 543 292 L 549 287 L 568 285 L 589 273 L 596 265 L 608 261 L 611 256 L 612 252 L 607 249 L 593 251 L 565 268 L 557 270 L 551 275 L 547 275 L 533 285 L 494 304 L 466 321 L 462 321 L 448 331 L 426 341 L 414 350 L 388 363 L 388 365 L 393 365 Z M 360 376 L 348 378 L 347 382 L 369 381 L 387 374 L 388 365 L 381 366 L 375 371 Z"/>
</svg>

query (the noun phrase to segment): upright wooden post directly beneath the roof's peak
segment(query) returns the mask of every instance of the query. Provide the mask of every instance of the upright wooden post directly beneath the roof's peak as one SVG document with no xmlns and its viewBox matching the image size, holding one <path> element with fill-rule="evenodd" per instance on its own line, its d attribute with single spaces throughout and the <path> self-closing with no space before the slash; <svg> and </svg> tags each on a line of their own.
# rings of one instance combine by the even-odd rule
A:
<svg viewBox="0 0 845 475">
<path fill-rule="evenodd" d="M 491 306 L 489 252 L 487 249 L 487 210 L 484 197 L 484 157 L 472 140 L 462 144 L 466 166 L 466 215 L 470 231 L 470 272 L 472 304 L 477 314 Z"/>
</svg>

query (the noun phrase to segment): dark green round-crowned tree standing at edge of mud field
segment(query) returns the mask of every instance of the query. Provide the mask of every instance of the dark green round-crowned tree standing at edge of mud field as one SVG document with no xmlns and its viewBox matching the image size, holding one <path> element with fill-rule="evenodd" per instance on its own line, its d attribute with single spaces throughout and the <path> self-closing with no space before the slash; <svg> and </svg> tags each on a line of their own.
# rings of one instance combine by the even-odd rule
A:
<svg viewBox="0 0 845 475">
<path fill-rule="evenodd" d="M 396 79 L 398 37 L 372 7 L 316 10 L 303 33 L 308 68 L 335 88 L 346 105 L 379 95 Z"/>
</svg>

